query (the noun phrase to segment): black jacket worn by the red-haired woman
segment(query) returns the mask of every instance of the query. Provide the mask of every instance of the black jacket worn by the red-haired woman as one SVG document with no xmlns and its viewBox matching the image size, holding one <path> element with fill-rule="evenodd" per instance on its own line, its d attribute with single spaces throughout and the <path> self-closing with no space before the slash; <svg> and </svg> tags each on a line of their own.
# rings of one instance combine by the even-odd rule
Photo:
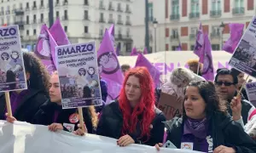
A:
<svg viewBox="0 0 256 153">
<path fill-rule="evenodd" d="M 131 138 L 134 139 L 136 144 L 147 144 L 153 146 L 154 144 L 163 142 L 165 125 L 162 122 L 166 121 L 166 117 L 157 108 L 155 108 L 154 111 L 155 118 L 152 122 L 153 128 L 151 129 L 150 138 L 148 141 L 145 139 L 138 139 L 138 137 L 134 134 L 129 134 Z M 113 139 L 119 139 L 121 136 L 122 127 L 123 115 L 119 109 L 119 103 L 114 101 L 113 103 L 110 103 L 104 107 L 100 122 L 96 130 L 96 134 Z"/>
</svg>

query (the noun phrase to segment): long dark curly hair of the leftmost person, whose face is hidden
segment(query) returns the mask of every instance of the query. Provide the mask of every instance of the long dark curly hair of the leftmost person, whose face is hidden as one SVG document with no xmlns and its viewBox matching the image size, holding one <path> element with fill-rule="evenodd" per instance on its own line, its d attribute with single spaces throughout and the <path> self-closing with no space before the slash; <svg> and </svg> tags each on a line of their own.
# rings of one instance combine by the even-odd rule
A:
<svg viewBox="0 0 256 153">
<path fill-rule="evenodd" d="M 26 72 L 30 73 L 27 83 L 29 88 L 44 90 L 49 93 L 49 73 L 41 61 L 32 53 L 23 53 Z"/>
</svg>

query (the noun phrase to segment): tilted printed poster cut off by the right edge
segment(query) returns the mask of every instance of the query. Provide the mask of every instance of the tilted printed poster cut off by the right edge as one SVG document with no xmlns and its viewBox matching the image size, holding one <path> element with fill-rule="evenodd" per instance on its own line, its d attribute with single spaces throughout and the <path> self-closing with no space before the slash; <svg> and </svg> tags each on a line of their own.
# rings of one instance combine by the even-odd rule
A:
<svg viewBox="0 0 256 153">
<path fill-rule="evenodd" d="M 256 16 L 241 37 L 229 64 L 239 71 L 256 77 Z"/>
</svg>

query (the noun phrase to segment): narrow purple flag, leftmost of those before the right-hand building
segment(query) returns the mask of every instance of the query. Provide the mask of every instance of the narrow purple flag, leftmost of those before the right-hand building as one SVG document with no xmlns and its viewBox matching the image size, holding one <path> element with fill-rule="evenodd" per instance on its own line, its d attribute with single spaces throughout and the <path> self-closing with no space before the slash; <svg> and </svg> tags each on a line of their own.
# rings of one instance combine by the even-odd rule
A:
<svg viewBox="0 0 256 153">
<path fill-rule="evenodd" d="M 202 31 L 202 26 L 200 24 L 199 30 L 197 32 L 196 40 L 195 40 L 195 48 L 194 48 L 194 54 L 196 54 L 198 57 L 201 57 L 201 52 L 204 46 L 204 34 Z M 200 60 L 202 63 L 203 60 Z"/>
</svg>

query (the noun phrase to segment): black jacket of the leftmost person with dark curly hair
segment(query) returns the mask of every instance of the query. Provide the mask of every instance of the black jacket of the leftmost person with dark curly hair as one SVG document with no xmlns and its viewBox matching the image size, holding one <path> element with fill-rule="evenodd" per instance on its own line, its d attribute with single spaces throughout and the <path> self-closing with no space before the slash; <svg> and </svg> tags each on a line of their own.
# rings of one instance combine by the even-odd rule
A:
<svg viewBox="0 0 256 153">
<path fill-rule="evenodd" d="M 29 89 L 29 93 L 26 94 L 20 101 L 13 116 L 20 122 L 32 123 L 32 118 L 38 112 L 41 105 L 47 100 L 45 93 L 42 90 Z M 9 93 L 10 95 L 12 92 Z M 4 111 L 6 109 L 5 96 L 0 95 L 0 120 L 4 120 Z"/>
</svg>

